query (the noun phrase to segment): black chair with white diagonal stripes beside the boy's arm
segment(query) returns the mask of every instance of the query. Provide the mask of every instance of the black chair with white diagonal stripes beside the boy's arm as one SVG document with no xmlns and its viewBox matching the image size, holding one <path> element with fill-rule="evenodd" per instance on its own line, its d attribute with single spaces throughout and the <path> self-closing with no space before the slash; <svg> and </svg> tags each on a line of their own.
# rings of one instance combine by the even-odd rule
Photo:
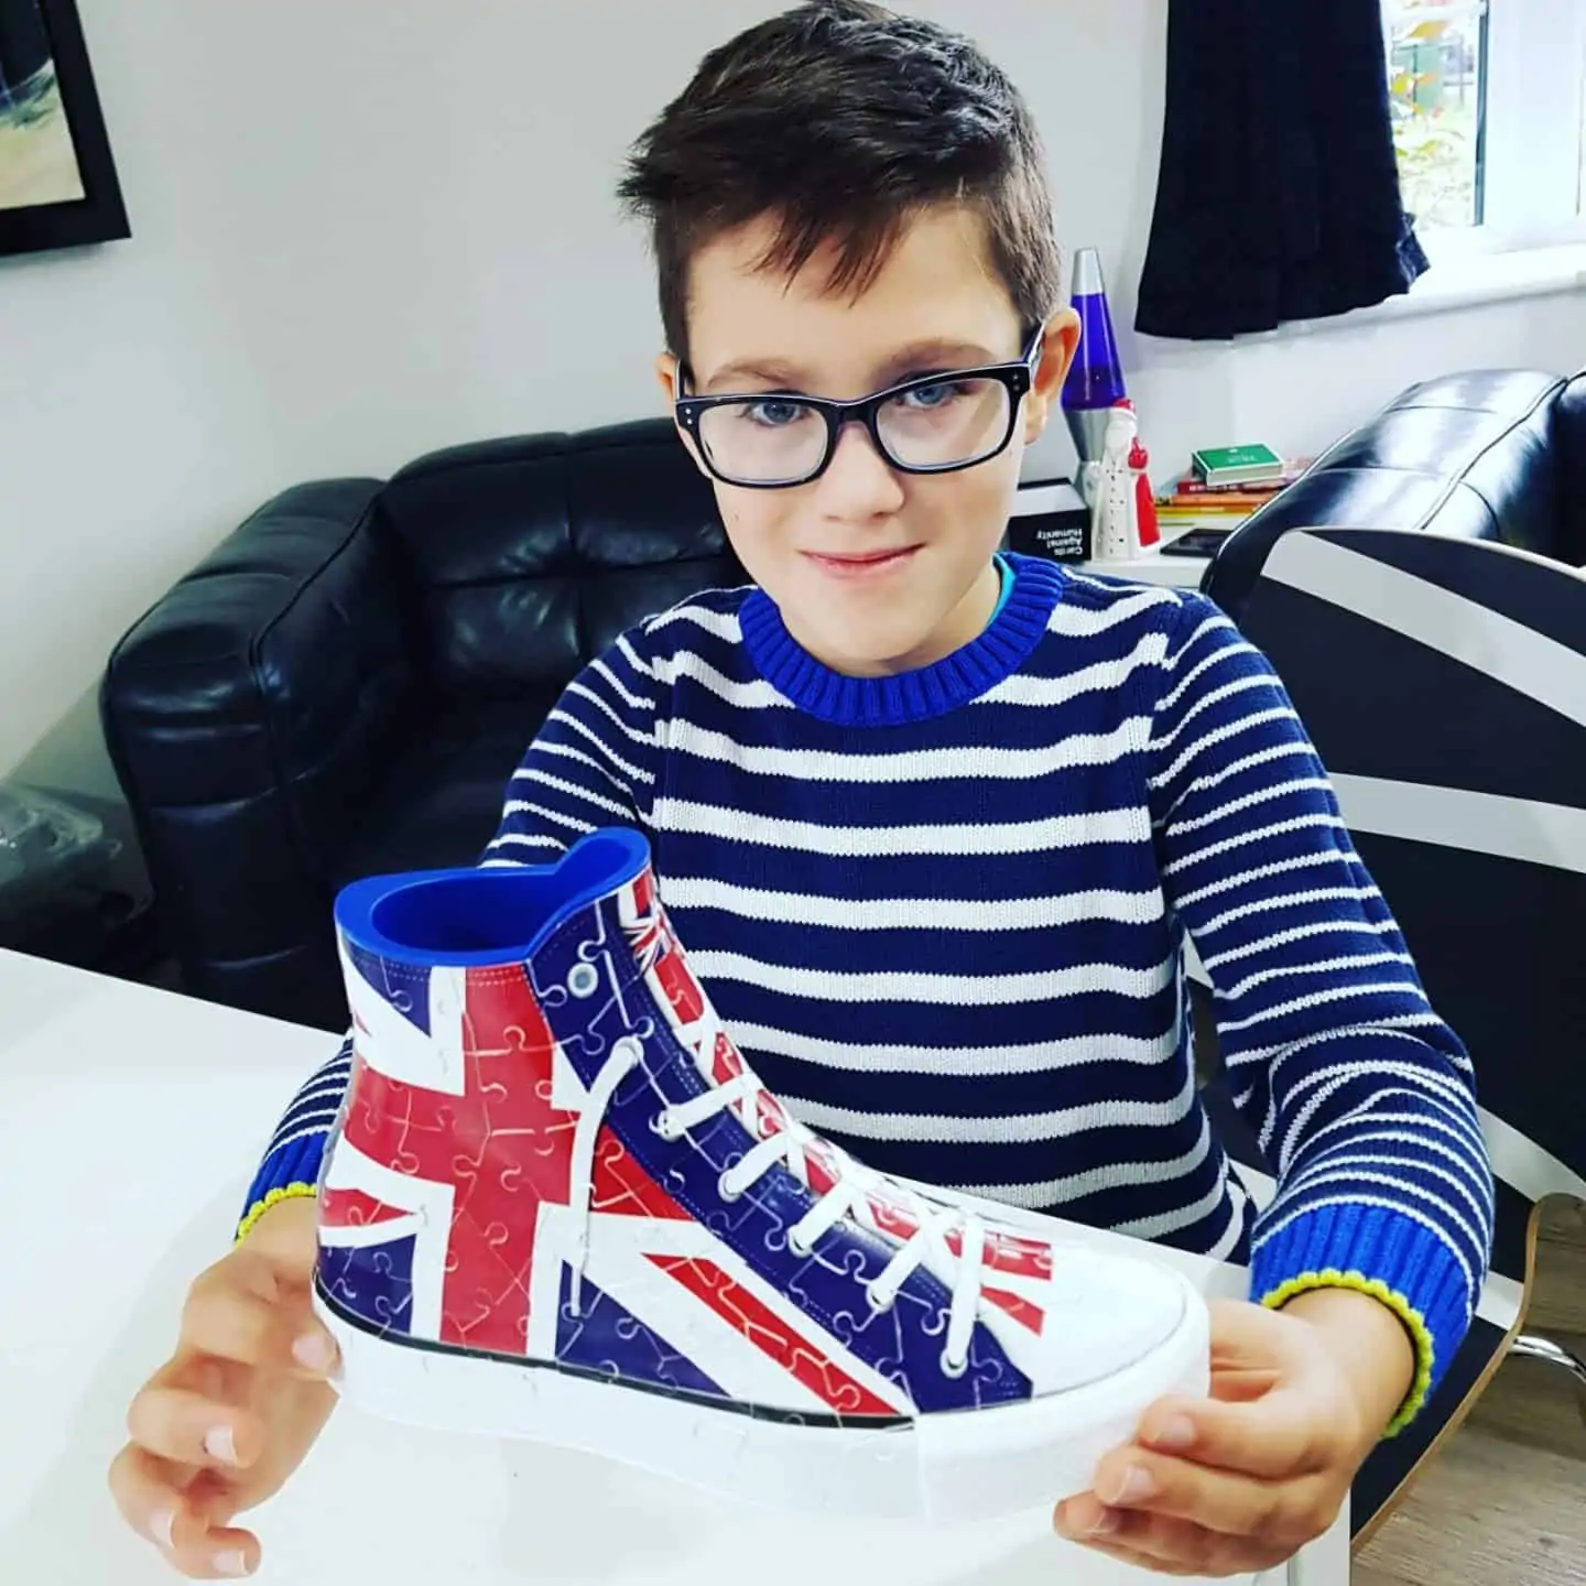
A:
<svg viewBox="0 0 1586 1586">
<path fill-rule="evenodd" d="M 1586 573 L 1354 528 L 1288 530 L 1248 573 L 1221 587 L 1213 563 L 1205 593 L 1272 660 L 1472 1053 L 1497 1178 L 1475 1326 L 1423 1415 L 1361 1470 L 1359 1546 L 1507 1354 L 1572 1373 L 1586 1416 L 1586 1362 L 1523 1331 L 1540 1204 L 1586 1204 Z M 1259 1201 L 1267 1164 L 1215 1074 L 1205 1096 Z"/>
</svg>

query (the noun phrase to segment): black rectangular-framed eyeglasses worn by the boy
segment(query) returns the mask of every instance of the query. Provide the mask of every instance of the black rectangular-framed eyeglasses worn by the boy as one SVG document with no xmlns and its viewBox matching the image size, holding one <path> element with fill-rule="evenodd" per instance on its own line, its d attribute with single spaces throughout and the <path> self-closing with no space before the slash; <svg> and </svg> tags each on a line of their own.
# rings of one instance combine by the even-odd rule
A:
<svg viewBox="0 0 1586 1586">
<path fill-rule="evenodd" d="M 717 479 L 750 490 L 818 479 L 849 423 L 863 423 L 899 473 L 952 474 L 1007 450 L 1044 339 L 1037 327 L 1013 363 L 923 374 L 855 401 L 782 392 L 679 396 L 677 422 Z M 690 381 L 687 368 L 679 379 Z"/>
</svg>

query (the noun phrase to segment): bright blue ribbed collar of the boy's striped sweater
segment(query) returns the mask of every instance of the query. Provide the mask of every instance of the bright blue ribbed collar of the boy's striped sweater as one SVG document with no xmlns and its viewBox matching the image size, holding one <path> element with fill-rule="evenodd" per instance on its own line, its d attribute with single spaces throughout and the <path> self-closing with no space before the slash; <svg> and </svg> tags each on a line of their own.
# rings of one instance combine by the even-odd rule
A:
<svg viewBox="0 0 1586 1586">
<path fill-rule="evenodd" d="M 1010 557 L 1013 590 L 979 639 L 929 666 L 891 677 L 849 677 L 804 650 L 764 590 L 739 607 L 744 646 L 761 677 L 823 722 L 902 726 L 942 715 L 994 688 L 1029 658 L 1063 595 L 1063 568 Z"/>
</svg>

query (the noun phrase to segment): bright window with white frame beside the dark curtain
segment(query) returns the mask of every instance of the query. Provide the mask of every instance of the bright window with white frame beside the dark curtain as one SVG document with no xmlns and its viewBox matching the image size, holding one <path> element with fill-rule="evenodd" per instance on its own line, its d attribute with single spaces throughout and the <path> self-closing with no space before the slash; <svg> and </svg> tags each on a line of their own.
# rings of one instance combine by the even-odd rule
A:
<svg viewBox="0 0 1586 1586">
<path fill-rule="evenodd" d="M 1434 259 L 1586 238 L 1586 5 L 1388 0 L 1405 208 Z"/>
</svg>

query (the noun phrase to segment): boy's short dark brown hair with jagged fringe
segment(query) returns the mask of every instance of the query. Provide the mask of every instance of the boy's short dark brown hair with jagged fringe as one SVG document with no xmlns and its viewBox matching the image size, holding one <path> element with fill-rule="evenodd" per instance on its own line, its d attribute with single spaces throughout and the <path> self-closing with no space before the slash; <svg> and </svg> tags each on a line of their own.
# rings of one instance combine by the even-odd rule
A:
<svg viewBox="0 0 1586 1586">
<path fill-rule="evenodd" d="M 914 213 L 967 201 L 1020 320 L 1058 306 L 1045 154 L 1018 89 L 967 38 L 871 0 L 810 0 L 714 49 L 634 144 L 619 195 L 650 225 L 684 360 L 695 251 L 768 214 L 761 268 L 791 276 L 831 239 L 831 290 L 858 293 Z"/>
</svg>

